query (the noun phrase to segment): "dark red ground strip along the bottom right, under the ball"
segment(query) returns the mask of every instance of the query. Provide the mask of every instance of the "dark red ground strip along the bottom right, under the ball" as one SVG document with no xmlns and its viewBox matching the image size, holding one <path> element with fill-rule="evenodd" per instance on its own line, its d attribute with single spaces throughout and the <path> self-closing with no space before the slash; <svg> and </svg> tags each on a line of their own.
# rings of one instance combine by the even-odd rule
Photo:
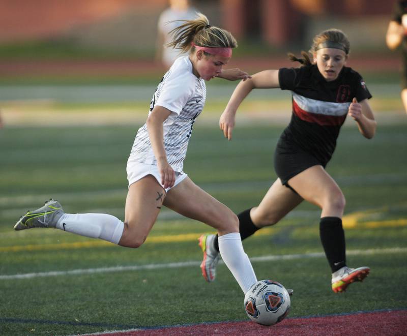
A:
<svg viewBox="0 0 407 336">
<path fill-rule="evenodd" d="M 154 335 L 278 335 L 278 336 L 397 336 L 407 335 L 407 310 L 356 313 L 309 318 L 287 318 L 273 326 L 251 321 L 196 324 L 147 330 L 104 333 L 114 336 Z"/>
</svg>

